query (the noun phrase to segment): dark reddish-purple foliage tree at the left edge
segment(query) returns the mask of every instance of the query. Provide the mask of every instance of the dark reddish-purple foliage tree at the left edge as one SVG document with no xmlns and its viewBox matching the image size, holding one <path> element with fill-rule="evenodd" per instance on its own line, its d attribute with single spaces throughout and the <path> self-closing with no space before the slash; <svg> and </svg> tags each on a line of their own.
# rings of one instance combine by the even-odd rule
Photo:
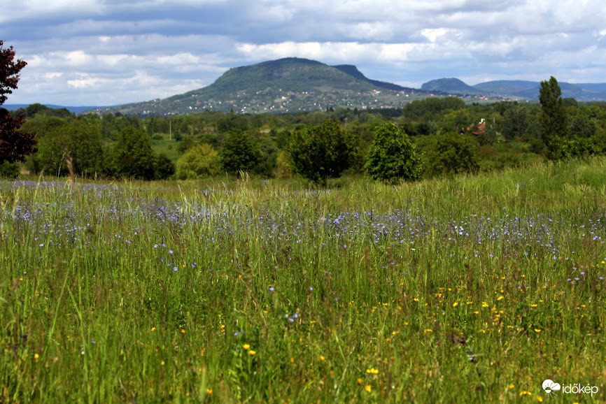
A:
<svg viewBox="0 0 606 404">
<path fill-rule="evenodd" d="M 10 46 L 2 48 L 0 41 L 0 106 L 6 101 L 6 94 L 12 94 L 17 89 L 19 72 L 27 63 L 21 59 L 15 62 L 15 51 Z M 8 161 L 25 161 L 27 154 L 36 150 L 36 134 L 20 131 L 25 122 L 24 115 L 11 115 L 8 110 L 0 108 L 0 163 Z"/>
</svg>

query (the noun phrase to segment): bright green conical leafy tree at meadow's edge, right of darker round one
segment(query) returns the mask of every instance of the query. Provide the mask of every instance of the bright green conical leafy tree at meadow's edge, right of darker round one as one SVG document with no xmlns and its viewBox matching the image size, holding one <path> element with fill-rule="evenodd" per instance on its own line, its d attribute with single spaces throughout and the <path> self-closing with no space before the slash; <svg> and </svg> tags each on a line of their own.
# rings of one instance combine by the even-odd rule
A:
<svg viewBox="0 0 606 404">
<path fill-rule="evenodd" d="M 423 163 L 402 128 L 386 122 L 376 127 L 374 134 L 365 164 L 365 171 L 371 178 L 396 182 L 421 177 Z"/>
</svg>

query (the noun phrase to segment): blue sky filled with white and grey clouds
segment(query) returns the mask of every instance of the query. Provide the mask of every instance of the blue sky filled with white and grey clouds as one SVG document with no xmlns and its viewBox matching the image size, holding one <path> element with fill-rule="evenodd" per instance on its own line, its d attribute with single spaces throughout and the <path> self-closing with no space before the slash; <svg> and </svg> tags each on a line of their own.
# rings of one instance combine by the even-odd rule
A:
<svg viewBox="0 0 606 404">
<path fill-rule="evenodd" d="M 27 62 L 7 104 L 161 99 L 282 57 L 416 88 L 606 82 L 602 0 L 0 0 L 0 10 L 3 47 Z"/>
</svg>

